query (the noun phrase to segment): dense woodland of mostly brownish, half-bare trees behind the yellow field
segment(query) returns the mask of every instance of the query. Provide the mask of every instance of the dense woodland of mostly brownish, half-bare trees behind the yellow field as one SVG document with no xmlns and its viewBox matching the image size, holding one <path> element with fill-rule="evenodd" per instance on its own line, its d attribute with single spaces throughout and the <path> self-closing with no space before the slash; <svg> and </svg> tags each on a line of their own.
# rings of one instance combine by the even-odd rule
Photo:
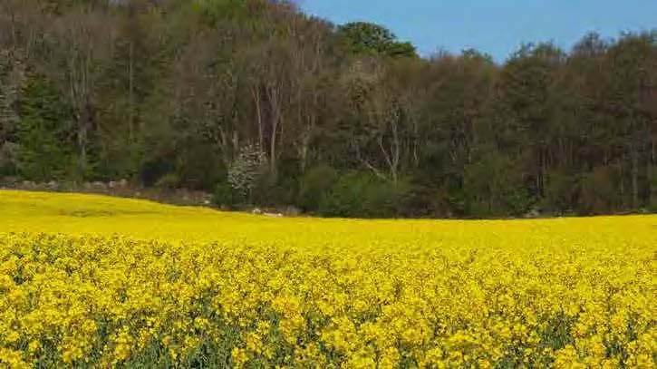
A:
<svg viewBox="0 0 657 369">
<path fill-rule="evenodd" d="M 601 214 L 657 209 L 656 143 L 657 32 L 500 64 L 284 2 L 0 1 L 0 177 L 324 216 Z"/>
</svg>

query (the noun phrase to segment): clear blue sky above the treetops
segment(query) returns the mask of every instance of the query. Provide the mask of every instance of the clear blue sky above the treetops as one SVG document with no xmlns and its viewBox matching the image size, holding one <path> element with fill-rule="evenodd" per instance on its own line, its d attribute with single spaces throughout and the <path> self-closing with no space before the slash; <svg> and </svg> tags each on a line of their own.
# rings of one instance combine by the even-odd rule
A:
<svg viewBox="0 0 657 369">
<path fill-rule="evenodd" d="M 570 48 L 595 31 L 657 27 L 657 0 L 297 0 L 309 14 L 335 24 L 385 25 L 422 55 L 474 47 L 504 61 L 524 42 L 552 41 Z"/>
</svg>

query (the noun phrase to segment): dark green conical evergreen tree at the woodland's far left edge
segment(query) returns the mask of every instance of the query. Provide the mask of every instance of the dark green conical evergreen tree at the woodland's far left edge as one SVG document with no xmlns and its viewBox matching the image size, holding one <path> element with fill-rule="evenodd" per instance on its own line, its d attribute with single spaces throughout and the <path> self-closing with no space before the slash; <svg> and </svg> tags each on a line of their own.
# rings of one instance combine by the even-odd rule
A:
<svg viewBox="0 0 657 369">
<path fill-rule="evenodd" d="M 40 75 L 27 80 L 19 104 L 18 172 L 30 180 L 64 178 L 72 165 L 69 107 L 53 83 Z"/>
</svg>

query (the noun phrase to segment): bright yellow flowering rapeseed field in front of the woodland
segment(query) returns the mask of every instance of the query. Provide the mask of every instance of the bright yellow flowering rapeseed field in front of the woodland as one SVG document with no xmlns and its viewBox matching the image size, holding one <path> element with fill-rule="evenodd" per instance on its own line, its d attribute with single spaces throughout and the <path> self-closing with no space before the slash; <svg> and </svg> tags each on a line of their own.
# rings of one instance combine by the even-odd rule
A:
<svg viewBox="0 0 657 369">
<path fill-rule="evenodd" d="M 9 367 L 655 367 L 657 217 L 266 218 L 0 191 Z"/>
</svg>

